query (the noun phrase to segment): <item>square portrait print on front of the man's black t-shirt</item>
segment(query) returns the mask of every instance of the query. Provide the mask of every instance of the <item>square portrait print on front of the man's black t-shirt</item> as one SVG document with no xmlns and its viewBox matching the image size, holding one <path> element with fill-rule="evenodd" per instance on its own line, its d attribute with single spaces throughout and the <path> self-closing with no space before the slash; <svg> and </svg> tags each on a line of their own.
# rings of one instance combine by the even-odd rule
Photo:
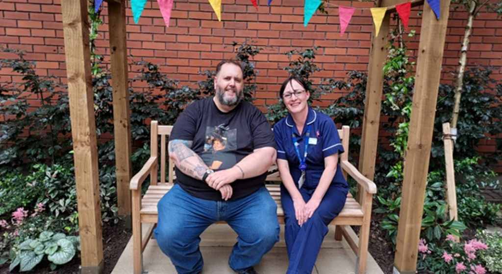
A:
<svg viewBox="0 0 502 274">
<path fill-rule="evenodd" d="M 207 127 L 202 160 L 210 169 L 227 169 L 237 163 L 237 129 L 224 124 Z"/>
</svg>

